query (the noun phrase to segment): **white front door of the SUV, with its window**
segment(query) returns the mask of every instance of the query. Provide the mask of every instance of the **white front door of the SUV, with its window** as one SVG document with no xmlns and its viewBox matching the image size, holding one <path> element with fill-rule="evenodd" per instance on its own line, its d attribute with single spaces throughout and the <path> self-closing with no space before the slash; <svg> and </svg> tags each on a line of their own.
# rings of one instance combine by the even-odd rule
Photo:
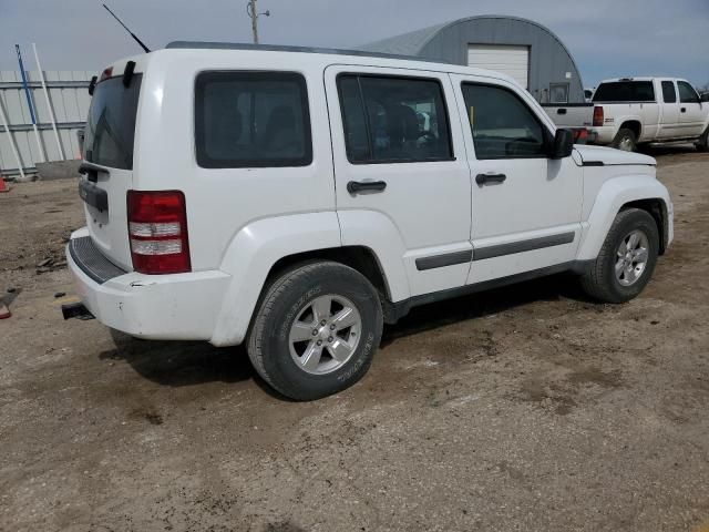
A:
<svg viewBox="0 0 709 532">
<path fill-rule="evenodd" d="M 534 102 L 505 81 L 451 76 L 467 117 L 473 263 L 469 284 L 574 260 L 583 168 L 547 156 L 553 139 Z"/>
</svg>

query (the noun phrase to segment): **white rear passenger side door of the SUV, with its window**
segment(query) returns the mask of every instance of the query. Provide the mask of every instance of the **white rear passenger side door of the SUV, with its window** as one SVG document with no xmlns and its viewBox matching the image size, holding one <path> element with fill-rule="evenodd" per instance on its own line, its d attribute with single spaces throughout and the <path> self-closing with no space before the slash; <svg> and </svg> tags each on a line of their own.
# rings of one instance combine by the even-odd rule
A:
<svg viewBox="0 0 709 532">
<path fill-rule="evenodd" d="M 410 296 L 463 286 L 471 182 L 448 74 L 331 65 L 325 84 L 343 244 L 379 242 Z"/>
</svg>

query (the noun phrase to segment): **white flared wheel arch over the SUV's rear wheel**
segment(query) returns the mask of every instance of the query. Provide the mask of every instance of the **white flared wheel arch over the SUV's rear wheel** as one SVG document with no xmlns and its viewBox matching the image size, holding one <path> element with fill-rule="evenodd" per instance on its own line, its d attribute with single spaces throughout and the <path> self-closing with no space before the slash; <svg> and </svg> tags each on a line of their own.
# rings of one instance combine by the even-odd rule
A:
<svg viewBox="0 0 709 532">
<path fill-rule="evenodd" d="M 297 263 L 323 259 L 367 277 L 384 301 L 409 297 L 409 284 L 393 227 L 374 222 L 345 242 L 338 213 L 307 213 L 255 221 L 232 239 L 219 269 L 232 279 L 223 295 L 210 338 L 215 346 L 240 344 L 268 282 Z M 382 247 L 382 242 L 384 247 Z M 387 306 L 384 308 L 387 311 Z"/>
</svg>

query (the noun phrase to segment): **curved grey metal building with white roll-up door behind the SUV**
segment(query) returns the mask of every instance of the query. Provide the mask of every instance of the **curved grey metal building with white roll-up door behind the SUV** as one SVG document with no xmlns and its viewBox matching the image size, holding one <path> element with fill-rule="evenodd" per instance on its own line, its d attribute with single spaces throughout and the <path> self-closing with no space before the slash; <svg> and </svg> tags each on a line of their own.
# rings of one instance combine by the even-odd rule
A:
<svg viewBox="0 0 709 532">
<path fill-rule="evenodd" d="M 515 17 L 480 16 L 423 28 L 359 47 L 512 75 L 542 103 L 583 103 L 574 58 L 549 29 Z"/>
</svg>

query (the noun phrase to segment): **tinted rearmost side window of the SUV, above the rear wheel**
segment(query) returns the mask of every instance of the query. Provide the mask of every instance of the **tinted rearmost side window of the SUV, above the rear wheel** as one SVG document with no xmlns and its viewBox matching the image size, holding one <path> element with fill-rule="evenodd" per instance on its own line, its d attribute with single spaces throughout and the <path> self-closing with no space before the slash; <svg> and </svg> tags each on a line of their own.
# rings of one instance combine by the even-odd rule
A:
<svg viewBox="0 0 709 532">
<path fill-rule="evenodd" d="M 204 168 L 312 162 L 306 81 L 290 72 L 205 72 L 195 88 L 197 164 Z"/>
</svg>

